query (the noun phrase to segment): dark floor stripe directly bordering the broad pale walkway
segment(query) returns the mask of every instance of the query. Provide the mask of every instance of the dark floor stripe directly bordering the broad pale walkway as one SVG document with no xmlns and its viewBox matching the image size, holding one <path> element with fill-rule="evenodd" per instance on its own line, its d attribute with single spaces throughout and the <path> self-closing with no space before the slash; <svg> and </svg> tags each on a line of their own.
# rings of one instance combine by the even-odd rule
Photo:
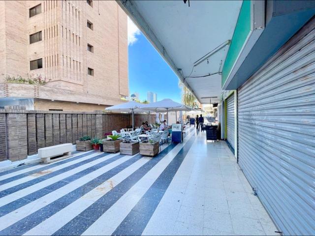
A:
<svg viewBox="0 0 315 236">
<path fill-rule="evenodd" d="M 141 235 L 195 140 L 190 138 L 112 234 Z"/>
</svg>

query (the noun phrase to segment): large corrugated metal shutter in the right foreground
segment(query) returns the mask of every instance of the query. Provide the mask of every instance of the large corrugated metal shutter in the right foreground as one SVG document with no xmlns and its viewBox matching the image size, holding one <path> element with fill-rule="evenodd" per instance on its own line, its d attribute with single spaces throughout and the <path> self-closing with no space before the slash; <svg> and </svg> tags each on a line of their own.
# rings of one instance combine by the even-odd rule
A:
<svg viewBox="0 0 315 236">
<path fill-rule="evenodd" d="M 315 235 L 312 24 L 238 90 L 239 165 L 284 235 Z"/>
</svg>

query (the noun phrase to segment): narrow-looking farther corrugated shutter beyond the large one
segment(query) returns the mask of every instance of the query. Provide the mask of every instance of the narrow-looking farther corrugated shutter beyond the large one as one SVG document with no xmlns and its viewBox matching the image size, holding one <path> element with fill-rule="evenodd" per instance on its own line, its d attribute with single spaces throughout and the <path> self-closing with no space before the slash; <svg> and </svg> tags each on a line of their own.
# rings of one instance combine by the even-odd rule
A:
<svg viewBox="0 0 315 236">
<path fill-rule="evenodd" d="M 234 148 L 235 144 L 234 92 L 226 99 L 227 142 Z"/>
</svg>

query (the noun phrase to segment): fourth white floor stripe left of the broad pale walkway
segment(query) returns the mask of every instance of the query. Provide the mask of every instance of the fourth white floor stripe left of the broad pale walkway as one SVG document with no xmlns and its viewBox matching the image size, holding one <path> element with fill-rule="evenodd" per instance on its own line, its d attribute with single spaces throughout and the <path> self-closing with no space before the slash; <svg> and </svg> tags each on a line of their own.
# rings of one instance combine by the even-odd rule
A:
<svg viewBox="0 0 315 236">
<path fill-rule="evenodd" d="M 33 192 L 35 192 L 35 191 L 37 191 L 37 190 L 39 190 L 41 188 L 44 188 L 45 186 L 48 186 L 48 185 L 50 185 L 52 183 L 55 183 L 55 182 L 57 182 L 59 180 L 62 180 L 65 177 L 69 177 L 69 176 L 74 175 L 76 173 L 79 173 L 80 171 L 83 171 L 83 170 L 85 170 L 85 169 L 87 169 L 89 167 L 92 167 L 92 166 L 94 166 L 94 165 L 96 165 L 96 164 L 98 164 L 100 162 L 103 162 L 103 161 L 105 161 L 107 159 L 110 159 L 111 157 L 113 157 L 115 155 L 118 155 L 118 154 L 117 153 L 109 154 L 109 155 L 101 157 L 101 158 L 99 158 L 99 159 L 97 159 L 95 161 L 89 162 L 89 163 L 84 164 L 82 166 L 79 166 L 79 167 L 77 167 L 75 169 L 72 169 L 70 171 L 64 172 L 63 174 L 60 174 L 60 175 L 55 176 L 55 177 L 51 177 L 51 178 L 49 178 L 47 180 L 44 180 L 44 181 L 39 182 L 39 183 L 36 183 L 36 184 L 34 184 L 34 185 L 30 186 L 30 187 L 24 188 L 24 189 L 22 189 L 20 191 L 17 191 L 15 193 L 13 193 L 13 194 L 5 196 L 5 197 L 1 198 L 0 207 L 4 206 L 4 205 L 6 205 L 6 204 L 8 204 L 10 202 L 13 202 L 13 201 L 15 201 L 15 200 L 17 200 L 17 199 L 19 199 L 21 197 L 25 197 L 26 195 L 28 195 L 30 193 L 33 193 Z"/>
</svg>

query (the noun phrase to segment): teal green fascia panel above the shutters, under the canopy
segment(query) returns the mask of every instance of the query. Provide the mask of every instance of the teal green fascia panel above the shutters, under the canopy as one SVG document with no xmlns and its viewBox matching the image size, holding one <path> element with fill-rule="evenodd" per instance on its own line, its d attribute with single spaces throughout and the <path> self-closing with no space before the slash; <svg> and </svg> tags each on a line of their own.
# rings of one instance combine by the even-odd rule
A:
<svg viewBox="0 0 315 236">
<path fill-rule="evenodd" d="M 222 69 L 221 86 L 223 87 L 232 67 L 241 52 L 251 31 L 251 0 L 244 0 L 234 29 L 232 41 Z"/>
</svg>

